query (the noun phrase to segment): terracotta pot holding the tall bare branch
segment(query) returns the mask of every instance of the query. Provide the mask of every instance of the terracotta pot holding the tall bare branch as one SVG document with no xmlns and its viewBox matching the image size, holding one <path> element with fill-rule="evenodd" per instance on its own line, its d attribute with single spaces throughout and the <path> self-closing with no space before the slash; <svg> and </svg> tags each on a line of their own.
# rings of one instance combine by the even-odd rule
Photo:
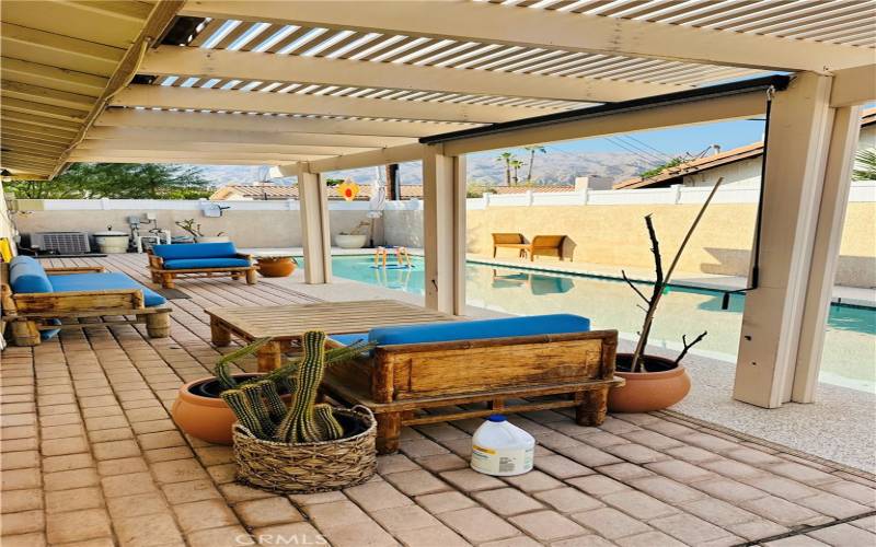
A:
<svg viewBox="0 0 876 547">
<path fill-rule="evenodd" d="M 609 411 L 661 410 L 680 401 L 691 391 L 691 379 L 684 366 L 661 357 L 645 356 L 645 368 L 652 372 L 625 372 L 632 360 L 631 353 L 618 353 L 614 374 L 626 380 L 626 384 L 609 392 Z"/>
</svg>

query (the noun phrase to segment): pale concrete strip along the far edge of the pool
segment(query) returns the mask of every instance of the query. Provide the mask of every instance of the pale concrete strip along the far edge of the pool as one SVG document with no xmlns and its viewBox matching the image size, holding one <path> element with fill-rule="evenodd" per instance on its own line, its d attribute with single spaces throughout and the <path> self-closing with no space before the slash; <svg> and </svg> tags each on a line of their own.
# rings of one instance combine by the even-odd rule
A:
<svg viewBox="0 0 876 547">
<path fill-rule="evenodd" d="M 247 248 L 241 249 L 245 253 L 253 254 L 289 254 L 295 256 L 303 256 L 302 247 L 286 247 L 286 248 Z M 411 255 L 423 256 L 422 248 L 408 247 L 407 251 Z M 332 256 L 372 256 L 373 249 L 371 248 L 341 248 L 332 247 Z M 539 271 L 543 274 L 553 275 L 572 275 L 584 276 L 599 279 L 610 279 L 622 281 L 620 276 L 620 266 L 608 266 L 593 263 L 530 263 L 526 259 L 495 259 L 482 255 L 468 254 L 466 260 L 473 264 L 483 266 L 498 266 L 520 268 L 527 270 Z M 644 268 L 623 268 L 627 277 L 633 281 L 642 281 L 646 283 L 654 282 L 654 272 Z M 670 286 L 683 287 L 689 289 L 705 289 L 712 291 L 735 291 L 744 289 L 748 283 L 748 279 L 739 276 L 721 276 L 714 274 L 691 274 L 684 271 L 677 271 L 673 275 Z M 876 289 L 864 289 L 858 287 L 844 287 L 833 286 L 833 296 L 831 298 L 833 304 L 852 305 L 860 307 L 876 309 Z"/>
</svg>

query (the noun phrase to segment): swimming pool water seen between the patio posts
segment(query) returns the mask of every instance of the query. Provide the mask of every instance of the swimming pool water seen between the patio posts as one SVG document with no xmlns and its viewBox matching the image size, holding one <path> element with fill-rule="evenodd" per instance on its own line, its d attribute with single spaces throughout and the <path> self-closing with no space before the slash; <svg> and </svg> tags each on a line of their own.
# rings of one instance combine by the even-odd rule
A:
<svg viewBox="0 0 876 547">
<path fill-rule="evenodd" d="M 423 294 L 423 258 L 413 260 L 412 269 L 377 269 L 370 255 L 334 256 L 332 269 L 342 278 Z M 638 298 L 615 279 L 469 261 L 465 291 L 473 306 L 519 315 L 575 313 L 589 317 L 593 328 L 616 328 L 629 339 L 642 326 Z M 650 344 L 680 350 L 681 335 L 690 339 L 707 330 L 708 336 L 692 351 L 735 362 L 745 296 L 731 295 L 728 310 L 721 309 L 722 296 L 719 291 L 671 287 L 660 303 Z M 819 380 L 876 392 L 876 310 L 830 306 Z"/>
</svg>

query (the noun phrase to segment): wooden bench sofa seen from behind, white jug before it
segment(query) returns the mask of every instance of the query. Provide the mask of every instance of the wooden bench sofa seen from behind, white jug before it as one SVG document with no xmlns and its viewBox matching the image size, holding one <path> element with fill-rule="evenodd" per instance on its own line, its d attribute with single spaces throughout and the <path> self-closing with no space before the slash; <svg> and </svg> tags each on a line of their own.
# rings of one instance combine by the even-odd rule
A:
<svg viewBox="0 0 876 547">
<path fill-rule="evenodd" d="M 576 421 L 606 418 L 614 377 L 616 330 L 557 314 L 373 328 L 333 335 L 336 345 L 368 339 L 368 356 L 332 365 L 323 389 L 369 407 L 378 419 L 378 450 L 399 449 L 402 426 L 574 407 Z M 543 396 L 561 396 L 543 398 Z M 509 405 L 511 399 L 539 397 Z M 484 405 L 485 404 L 485 405 Z M 457 407 L 450 414 L 415 414 Z"/>
</svg>

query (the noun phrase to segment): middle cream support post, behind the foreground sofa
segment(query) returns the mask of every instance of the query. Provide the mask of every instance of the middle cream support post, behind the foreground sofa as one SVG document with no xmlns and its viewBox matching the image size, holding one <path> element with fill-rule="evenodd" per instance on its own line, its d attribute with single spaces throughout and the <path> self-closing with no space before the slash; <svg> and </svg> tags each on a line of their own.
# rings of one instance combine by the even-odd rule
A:
<svg viewBox="0 0 876 547">
<path fill-rule="evenodd" d="M 429 147 L 423 159 L 426 307 L 465 309 L 465 158 Z"/>
</svg>

